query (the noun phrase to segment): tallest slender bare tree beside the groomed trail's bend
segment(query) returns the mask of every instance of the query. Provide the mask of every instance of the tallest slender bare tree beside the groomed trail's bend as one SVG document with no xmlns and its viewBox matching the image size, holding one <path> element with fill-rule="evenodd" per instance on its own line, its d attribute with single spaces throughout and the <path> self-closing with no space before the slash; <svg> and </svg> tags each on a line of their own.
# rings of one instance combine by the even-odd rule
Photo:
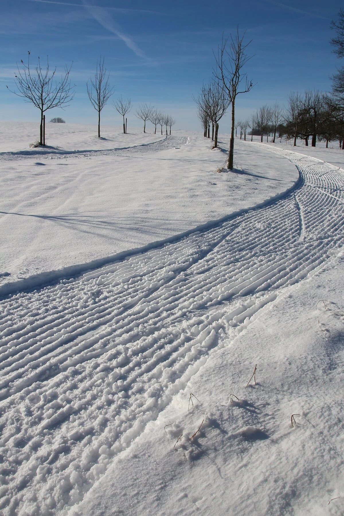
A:
<svg viewBox="0 0 344 516">
<path fill-rule="evenodd" d="M 247 93 L 253 87 L 252 81 L 249 82 L 247 75 L 242 75 L 242 68 L 245 63 L 250 59 L 246 54 L 245 50 L 251 43 L 243 43 L 243 38 L 239 36 L 239 28 L 237 27 L 237 33 L 233 38 L 231 35 L 230 48 L 227 50 L 228 38 L 225 40 L 222 36 L 221 46 L 218 47 L 218 55 L 216 58 L 216 76 L 222 80 L 223 87 L 228 94 L 228 98 L 232 103 L 232 130 L 230 140 L 230 150 L 228 152 L 227 168 L 233 170 L 233 158 L 234 158 L 234 125 L 235 125 L 235 101 L 236 97 L 240 93 Z M 228 63 L 228 64 L 227 64 Z M 240 89 L 240 83 L 244 79 L 244 86 Z"/>
</svg>

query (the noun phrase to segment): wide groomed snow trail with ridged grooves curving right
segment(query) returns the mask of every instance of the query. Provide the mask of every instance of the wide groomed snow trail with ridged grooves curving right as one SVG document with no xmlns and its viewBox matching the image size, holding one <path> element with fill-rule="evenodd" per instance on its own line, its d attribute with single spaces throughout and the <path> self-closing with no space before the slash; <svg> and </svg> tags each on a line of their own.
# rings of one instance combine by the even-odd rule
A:
<svg viewBox="0 0 344 516">
<path fill-rule="evenodd" d="M 209 353 L 339 252 L 344 171 L 267 148 L 297 166 L 296 192 L 0 301 L 6 516 L 67 513 Z"/>
</svg>

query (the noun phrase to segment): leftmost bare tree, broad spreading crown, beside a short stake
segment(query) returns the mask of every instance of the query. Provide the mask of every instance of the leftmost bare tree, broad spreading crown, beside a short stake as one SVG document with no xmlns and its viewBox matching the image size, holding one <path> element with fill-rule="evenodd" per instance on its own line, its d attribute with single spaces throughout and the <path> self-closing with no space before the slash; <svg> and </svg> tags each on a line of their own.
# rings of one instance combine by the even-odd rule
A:
<svg viewBox="0 0 344 516">
<path fill-rule="evenodd" d="M 54 107 L 66 106 L 74 97 L 74 86 L 71 86 L 69 74 L 72 65 L 64 66 L 64 74 L 61 80 L 55 79 L 56 67 L 50 72 L 49 61 L 46 58 L 46 68 L 42 69 L 40 58 L 38 65 L 32 70 L 30 67 L 30 52 L 28 52 L 27 65 L 21 59 L 23 70 L 19 69 L 14 75 L 14 82 L 17 89 L 7 89 L 25 99 L 25 102 L 32 102 L 41 111 L 41 124 L 39 133 L 39 144 L 45 145 L 45 124 L 43 123 L 44 112 Z"/>
</svg>

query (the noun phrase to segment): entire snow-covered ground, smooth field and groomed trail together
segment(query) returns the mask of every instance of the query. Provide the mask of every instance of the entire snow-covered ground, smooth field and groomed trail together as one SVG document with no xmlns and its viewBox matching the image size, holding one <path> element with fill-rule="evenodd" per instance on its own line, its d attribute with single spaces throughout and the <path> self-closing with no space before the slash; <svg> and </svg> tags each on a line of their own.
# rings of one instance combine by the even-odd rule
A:
<svg viewBox="0 0 344 516">
<path fill-rule="evenodd" d="M 0 509 L 342 514 L 344 171 L 124 136 L 0 155 Z"/>
</svg>

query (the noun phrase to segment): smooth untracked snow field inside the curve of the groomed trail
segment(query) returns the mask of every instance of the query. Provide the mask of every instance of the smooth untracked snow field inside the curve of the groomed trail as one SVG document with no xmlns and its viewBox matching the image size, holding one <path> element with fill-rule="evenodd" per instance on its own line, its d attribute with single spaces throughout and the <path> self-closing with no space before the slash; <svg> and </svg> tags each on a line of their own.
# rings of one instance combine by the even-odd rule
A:
<svg viewBox="0 0 344 516">
<path fill-rule="evenodd" d="M 18 149 L 17 134 L 20 142 L 26 138 L 26 147 L 0 154 L 2 293 L 23 288 L 25 280 L 26 286 L 41 284 L 42 273 L 57 271 L 48 275 L 51 280 L 94 267 L 94 260 L 111 262 L 120 252 L 263 202 L 298 178 L 281 156 L 266 148 L 252 154 L 240 142 L 241 173 L 215 173 L 226 156 L 211 151 L 198 133 L 161 140 L 104 127 L 108 149 L 122 148 L 106 151 L 95 127 L 49 124 L 47 133 L 59 149 L 42 151 L 29 149 L 25 124 L 17 132 L 7 125 L 1 125 L 0 141 L 7 138 Z M 37 131 L 37 124 L 29 128 Z M 74 140 L 81 151 L 73 152 Z M 82 150 L 92 143 L 95 151 Z"/>
</svg>

